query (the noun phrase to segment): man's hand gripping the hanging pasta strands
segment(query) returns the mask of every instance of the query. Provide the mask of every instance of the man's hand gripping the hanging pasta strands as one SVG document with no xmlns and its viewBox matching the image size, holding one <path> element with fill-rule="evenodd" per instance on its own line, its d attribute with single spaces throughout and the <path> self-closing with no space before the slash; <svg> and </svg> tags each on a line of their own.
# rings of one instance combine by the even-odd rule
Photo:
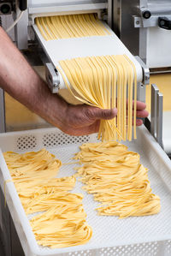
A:
<svg viewBox="0 0 171 256">
<path fill-rule="evenodd" d="M 139 117 L 147 117 L 149 115 L 145 107 L 146 105 L 143 102 L 137 102 L 137 126 L 143 123 Z M 115 118 L 116 115 L 116 109 L 101 110 L 85 104 L 68 104 L 65 116 L 63 116 L 61 129 L 66 134 L 77 136 L 97 133 L 101 119 L 109 120 Z"/>
</svg>

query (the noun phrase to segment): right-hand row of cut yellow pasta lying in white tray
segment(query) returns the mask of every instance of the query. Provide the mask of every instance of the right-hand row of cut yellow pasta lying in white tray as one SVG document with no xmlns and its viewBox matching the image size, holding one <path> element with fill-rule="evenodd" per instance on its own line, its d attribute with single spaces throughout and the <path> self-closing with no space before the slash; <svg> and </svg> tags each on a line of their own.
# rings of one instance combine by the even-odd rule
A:
<svg viewBox="0 0 171 256">
<path fill-rule="evenodd" d="M 83 187 L 101 205 L 99 215 L 120 218 L 144 216 L 160 211 L 160 199 L 151 192 L 147 169 L 139 163 L 139 154 L 128 152 L 117 142 L 86 143 L 75 159 Z"/>
</svg>

